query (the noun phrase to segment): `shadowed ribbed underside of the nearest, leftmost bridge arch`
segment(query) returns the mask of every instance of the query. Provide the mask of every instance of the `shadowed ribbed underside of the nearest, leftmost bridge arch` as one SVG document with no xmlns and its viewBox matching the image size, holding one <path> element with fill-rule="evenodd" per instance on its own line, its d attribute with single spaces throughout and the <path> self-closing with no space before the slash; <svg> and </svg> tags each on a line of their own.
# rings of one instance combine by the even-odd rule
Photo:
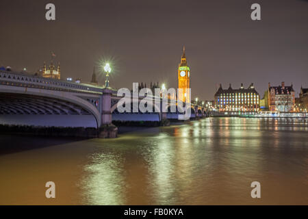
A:
<svg viewBox="0 0 308 219">
<path fill-rule="evenodd" d="M 0 124 L 44 127 L 97 127 L 83 107 L 45 96 L 0 93 Z"/>
</svg>

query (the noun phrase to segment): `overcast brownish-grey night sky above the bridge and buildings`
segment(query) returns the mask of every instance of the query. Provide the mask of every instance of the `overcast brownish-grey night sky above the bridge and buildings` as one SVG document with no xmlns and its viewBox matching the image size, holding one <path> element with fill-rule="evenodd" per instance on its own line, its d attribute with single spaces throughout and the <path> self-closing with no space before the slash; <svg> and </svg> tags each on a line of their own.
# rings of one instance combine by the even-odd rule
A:
<svg viewBox="0 0 308 219">
<path fill-rule="evenodd" d="M 46 21 L 54 3 L 56 21 Z M 251 4 L 261 21 L 251 20 Z M 255 88 L 268 82 L 308 87 L 308 1 L 0 1 L 0 65 L 36 72 L 51 51 L 62 79 L 90 81 L 110 60 L 110 85 L 165 82 L 177 88 L 185 45 L 192 97 L 214 99 L 216 86 Z M 105 78 L 99 73 L 99 82 Z"/>
</svg>

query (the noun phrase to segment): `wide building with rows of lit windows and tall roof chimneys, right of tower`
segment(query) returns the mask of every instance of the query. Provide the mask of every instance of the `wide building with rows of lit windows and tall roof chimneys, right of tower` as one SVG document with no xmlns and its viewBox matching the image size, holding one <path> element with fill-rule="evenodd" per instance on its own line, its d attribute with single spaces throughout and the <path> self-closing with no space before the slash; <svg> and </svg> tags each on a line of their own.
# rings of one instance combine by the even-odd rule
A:
<svg viewBox="0 0 308 219">
<path fill-rule="evenodd" d="M 258 112 L 259 93 L 255 90 L 253 83 L 244 88 L 243 83 L 240 89 L 233 89 L 230 86 L 227 90 L 218 88 L 215 96 L 215 107 L 220 112 Z"/>
</svg>

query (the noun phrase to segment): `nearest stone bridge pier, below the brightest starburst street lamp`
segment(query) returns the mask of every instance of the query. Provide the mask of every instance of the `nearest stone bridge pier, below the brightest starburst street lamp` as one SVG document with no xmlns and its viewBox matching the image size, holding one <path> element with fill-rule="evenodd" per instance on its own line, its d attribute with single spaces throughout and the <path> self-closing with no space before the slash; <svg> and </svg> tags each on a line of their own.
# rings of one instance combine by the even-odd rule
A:
<svg viewBox="0 0 308 219">
<path fill-rule="evenodd" d="M 111 96 L 112 90 L 107 88 L 103 89 L 101 97 L 101 127 L 99 127 L 99 138 L 116 138 L 118 135 L 118 127 L 112 124 Z"/>
</svg>

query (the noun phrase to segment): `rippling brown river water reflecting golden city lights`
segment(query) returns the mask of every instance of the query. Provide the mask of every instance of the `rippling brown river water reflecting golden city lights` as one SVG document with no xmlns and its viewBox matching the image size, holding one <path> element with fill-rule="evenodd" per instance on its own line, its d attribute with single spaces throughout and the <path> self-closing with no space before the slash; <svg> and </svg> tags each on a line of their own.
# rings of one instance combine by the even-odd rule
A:
<svg viewBox="0 0 308 219">
<path fill-rule="evenodd" d="M 0 145 L 1 205 L 308 204 L 307 120 L 205 118 L 116 139 L 0 135 Z"/>
</svg>

